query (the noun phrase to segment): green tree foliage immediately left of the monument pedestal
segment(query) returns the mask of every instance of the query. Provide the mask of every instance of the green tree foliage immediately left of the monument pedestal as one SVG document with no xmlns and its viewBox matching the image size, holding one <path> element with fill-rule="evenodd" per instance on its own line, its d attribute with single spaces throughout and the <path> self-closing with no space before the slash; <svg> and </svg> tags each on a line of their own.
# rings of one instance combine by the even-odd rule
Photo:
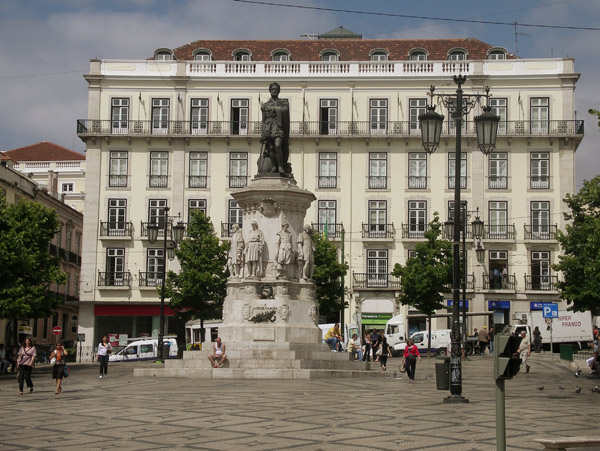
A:
<svg viewBox="0 0 600 451">
<path fill-rule="evenodd" d="M 184 318 L 217 319 L 227 293 L 227 250 L 229 243 L 221 243 L 214 227 L 204 213 L 194 211 L 187 226 L 187 238 L 175 255 L 181 272 L 169 271 L 165 295 L 169 306 L 182 310 Z"/>
</svg>

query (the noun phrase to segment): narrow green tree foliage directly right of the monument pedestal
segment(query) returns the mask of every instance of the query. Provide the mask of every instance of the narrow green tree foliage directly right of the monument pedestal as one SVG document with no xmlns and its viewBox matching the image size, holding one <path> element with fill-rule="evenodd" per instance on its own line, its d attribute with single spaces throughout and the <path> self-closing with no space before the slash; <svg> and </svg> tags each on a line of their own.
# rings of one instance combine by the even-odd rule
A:
<svg viewBox="0 0 600 451">
<path fill-rule="evenodd" d="M 348 306 L 342 277 L 348 273 L 348 265 L 338 262 L 337 248 L 320 233 L 312 234 L 315 243 L 315 271 L 313 279 L 317 286 L 319 314 L 331 316 Z"/>
</svg>

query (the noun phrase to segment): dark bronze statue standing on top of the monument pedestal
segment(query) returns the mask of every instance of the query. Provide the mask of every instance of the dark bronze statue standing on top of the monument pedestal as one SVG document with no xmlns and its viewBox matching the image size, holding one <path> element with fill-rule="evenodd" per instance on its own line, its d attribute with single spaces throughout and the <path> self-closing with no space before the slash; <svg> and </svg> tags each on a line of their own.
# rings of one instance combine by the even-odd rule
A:
<svg viewBox="0 0 600 451">
<path fill-rule="evenodd" d="M 258 174 L 278 173 L 290 176 L 292 167 L 288 163 L 290 140 L 290 105 L 279 98 L 281 86 L 273 82 L 269 85 L 271 98 L 262 104 L 262 144 L 258 159 Z"/>
</svg>

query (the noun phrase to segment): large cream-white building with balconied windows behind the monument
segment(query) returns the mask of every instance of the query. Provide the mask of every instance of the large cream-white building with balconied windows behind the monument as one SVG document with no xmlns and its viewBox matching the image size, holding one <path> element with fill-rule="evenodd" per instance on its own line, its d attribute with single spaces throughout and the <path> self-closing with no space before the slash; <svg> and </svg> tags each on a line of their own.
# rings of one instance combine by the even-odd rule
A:
<svg viewBox="0 0 600 451">
<path fill-rule="evenodd" d="M 462 133 L 462 199 L 485 223 L 482 261 L 466 236 L 468 310 L 508 323 L 537 302 L 560 302 L 554 233 L 583 138 L 572 59 L 520 59 L 475 39 L 197 41 L 149 60 L 91 61 L 88 118 L 78 121 L 87 146 L 80 333 L 157 333 L 160 274 L 178 266 L 148 242 L 146 225 L 165 207 L 184 221 L 204 210 L 223 239 L 241 223 L 231 193 L 257 172 L 272 81 L 290 103 L 294 177 L 317 197 L 306 222 L 326 229 L 350 266 L 345 322 L 381 328 L 412 313 L 390 271 L 423 241 L 434 212 L 449 218 L 456 164 L 453 124 L 428 155 L 418 116 L 430 85 L 453 93 L 457 74 L 465 91 L 489 86 L 501 117 L 489 157 L 473 126 L 481 105 Z"/>
</svg>

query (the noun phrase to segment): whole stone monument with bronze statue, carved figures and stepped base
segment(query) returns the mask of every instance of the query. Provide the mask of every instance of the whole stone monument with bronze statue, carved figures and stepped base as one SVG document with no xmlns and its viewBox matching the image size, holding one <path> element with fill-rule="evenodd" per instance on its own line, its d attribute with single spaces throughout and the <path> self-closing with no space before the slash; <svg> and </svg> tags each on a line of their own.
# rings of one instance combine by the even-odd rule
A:
<svg viewBox="0 0 600 451">
<path fill-rule="evenodd" d="M 243 215 L 233 226 L 228 258 L 230 278 L 219 335 L 228 360 L 212 368 L 210 349 L 184 353 L 164 369 L 135 370 L 135 375 L 232 379 L 307 379 L 319 377 L 392 377 L 378 367 L 350 361 L 322 343 L 319 309 L 312 280 L 314 243 L 305 225 L 316 200 L 294 180 L 289 157 L 290 116 L 280 86 L 262 107 L 258 173 L 232 193 Z M 242 261 L 243 260 L 243 261 Z M 207 348 L 209 346 L 206 346 Z"/>
</svg>

